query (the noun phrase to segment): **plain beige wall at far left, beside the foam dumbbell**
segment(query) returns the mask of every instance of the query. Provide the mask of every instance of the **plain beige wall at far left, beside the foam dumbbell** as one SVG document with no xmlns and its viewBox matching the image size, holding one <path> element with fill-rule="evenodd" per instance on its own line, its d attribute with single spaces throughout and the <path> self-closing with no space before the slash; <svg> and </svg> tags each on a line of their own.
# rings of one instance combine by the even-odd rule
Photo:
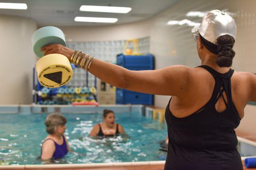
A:
<svg viewBox="0 0 256 170">
<path fill-rule="evenodd" d="M 0 15 L 0 104 L 32 103 L 33 20 Z"/>
</svg>

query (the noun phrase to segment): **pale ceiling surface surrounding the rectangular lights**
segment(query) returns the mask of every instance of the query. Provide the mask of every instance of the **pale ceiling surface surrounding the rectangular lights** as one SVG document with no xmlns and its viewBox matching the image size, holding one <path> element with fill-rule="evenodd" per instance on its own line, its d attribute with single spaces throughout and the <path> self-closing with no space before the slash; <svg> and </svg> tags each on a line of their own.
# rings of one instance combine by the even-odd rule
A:
<svg viewBox="0 0 256 170">
<path fill-rule="evenodd" d="M 113 24 L 131 23 L 145 20 L 169 8 L 178 0 L 0 0 L 2 3 L 26 3 L 27 10 L 0 9 L 0 14 L 28 17 L 39 26 L 99 26 L 110 23 L 75 22 L 79 17 L 114 17 Z M 80 12 L 81 5 L 131 7 L 127 14 Z"/>
</svg>

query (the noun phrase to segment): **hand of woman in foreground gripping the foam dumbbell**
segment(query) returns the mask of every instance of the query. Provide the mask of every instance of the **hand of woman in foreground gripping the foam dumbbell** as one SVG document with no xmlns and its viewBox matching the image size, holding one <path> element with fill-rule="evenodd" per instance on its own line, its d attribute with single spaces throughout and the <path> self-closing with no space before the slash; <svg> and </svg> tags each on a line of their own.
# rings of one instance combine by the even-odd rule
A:
<svg viewBox="0 0 256 170">
<path fill-rule="evenodd" d="M 43 51 L 44 51 L 44 55 L 48 55 L 48 54 L 65 55 L 69 61 L 70 61 L 71 55 L 75 52 L 73 49 L 69 49 L 65 46 L 62 46 L 61 44 L 51 44 L 51 45 L 44 46 L 41 49 L 41 52 Z"/>
</svg>

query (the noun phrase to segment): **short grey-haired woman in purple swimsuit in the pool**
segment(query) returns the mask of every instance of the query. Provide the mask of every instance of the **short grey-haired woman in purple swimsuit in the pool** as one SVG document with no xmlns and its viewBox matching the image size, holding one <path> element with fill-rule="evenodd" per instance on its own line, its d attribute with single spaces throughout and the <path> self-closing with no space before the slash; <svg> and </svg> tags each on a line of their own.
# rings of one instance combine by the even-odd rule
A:
<svg viewBox="0 0 256 170">
<path fill-rule="evenodd" d="M 65 156 L 71 151 L 67 138 L 64 136 L 67 119 L 64 116 L 51 113 L 47 116 L 44 124 L 49 135 L 44 139 L 41 148 L 41 159 L 57 159 Z"/>
</svg>

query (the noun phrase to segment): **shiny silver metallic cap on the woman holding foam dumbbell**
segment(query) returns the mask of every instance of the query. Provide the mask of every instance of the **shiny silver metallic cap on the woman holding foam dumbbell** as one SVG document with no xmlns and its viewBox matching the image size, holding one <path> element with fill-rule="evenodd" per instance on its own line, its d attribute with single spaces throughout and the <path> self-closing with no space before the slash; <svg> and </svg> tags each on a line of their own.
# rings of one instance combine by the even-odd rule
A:
<svg viewBox="0 0 256 170">
<path fill-rule="evenodd" d="M 195 26 L 192 32 L 199 31 L 200 35 L 211 43 L 217 45 L 218 37 L 231 35 L 236 39 L 235 20 L 226 12 L 212 10 L 204 15 L 200 26 Z"/>
</svg>

